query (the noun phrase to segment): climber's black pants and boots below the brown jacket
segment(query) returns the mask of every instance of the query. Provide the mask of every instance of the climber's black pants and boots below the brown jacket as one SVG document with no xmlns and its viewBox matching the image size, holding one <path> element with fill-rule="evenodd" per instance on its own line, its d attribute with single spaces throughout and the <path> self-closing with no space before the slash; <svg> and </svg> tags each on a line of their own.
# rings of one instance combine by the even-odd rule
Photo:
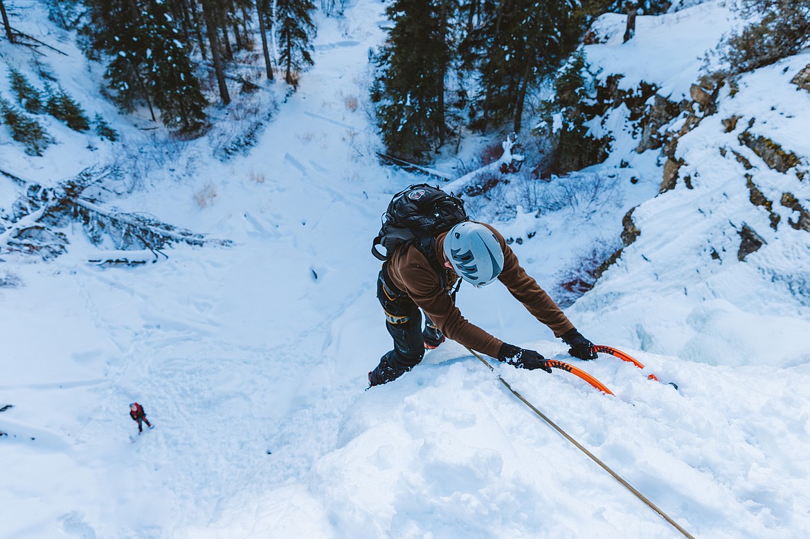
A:
<svg viewBox="0 0 810 539">
<path fill-rule="evenodd" d="M 385 384 L 402 376 L 422 361 L 424 345 L 437 346 L 442 340 L 441 331 L 425 316 L 422 329 L 422 312 L 403 291 L 391 284 L 383 265 L 377 277 L 377 299 L 386 313 L 386 329 L 394 339 L 394 350 L 380 359 L 380 364 L 369 372 L 371 385 Z"/>
</svg>

